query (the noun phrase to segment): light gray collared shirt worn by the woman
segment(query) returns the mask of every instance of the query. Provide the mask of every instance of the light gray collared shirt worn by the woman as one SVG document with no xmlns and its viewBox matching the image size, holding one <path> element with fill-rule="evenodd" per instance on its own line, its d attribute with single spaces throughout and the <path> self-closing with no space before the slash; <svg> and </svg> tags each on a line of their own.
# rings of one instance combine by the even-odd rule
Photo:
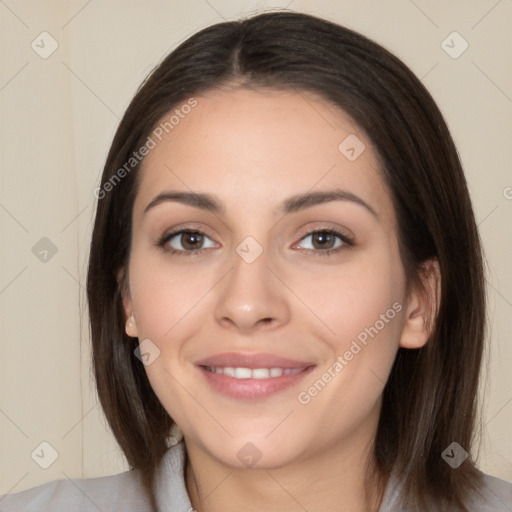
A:
<svg viewBox="0 0 512 512">
<path fill-rule="evenodd" d="M 158 468 L 156 500 L 159 512 L 193 512 L 184 478 L 185 445 L 170 448 Z M 489 475 L 475 499 L 471 512 L 512 512 L 512 483 Z M 400 484 L 389 479 L 379 512 L 406 512 L 397 509 Z M 0 496 L 0 512 L 151 512 L 138 470 L 114 476 L 56 480 L 47 484 Z"/>
</svg>

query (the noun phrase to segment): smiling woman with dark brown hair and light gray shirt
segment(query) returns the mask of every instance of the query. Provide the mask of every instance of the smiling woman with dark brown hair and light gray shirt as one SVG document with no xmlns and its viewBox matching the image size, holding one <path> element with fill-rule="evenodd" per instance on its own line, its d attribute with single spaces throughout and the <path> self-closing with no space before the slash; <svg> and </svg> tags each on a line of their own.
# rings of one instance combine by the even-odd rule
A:
<svg viewBox="0 0 512 512">
<path fill-rule="evenodd" d="M 2 510 L 512 509 L 473 458 L 466 182 L 396 57 L 292 12 L 202 30 L 137 92 L 96 196 L 94 369 L 134 469 Z"/>
</svg>

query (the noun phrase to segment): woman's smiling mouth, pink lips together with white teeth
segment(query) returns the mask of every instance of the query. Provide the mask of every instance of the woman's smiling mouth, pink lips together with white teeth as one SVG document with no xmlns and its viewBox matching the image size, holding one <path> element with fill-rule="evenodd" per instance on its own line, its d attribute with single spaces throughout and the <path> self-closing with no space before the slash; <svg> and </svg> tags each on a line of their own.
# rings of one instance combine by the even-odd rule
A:
<svg viewBox="0 0 512 512">
<path fill-rule="evenodd" d="M 297 386 L 316 366 L 272 354 L 219 354 L 196 363 L 210 389 L 237 400 L 262 400 Z"/>
</svg>

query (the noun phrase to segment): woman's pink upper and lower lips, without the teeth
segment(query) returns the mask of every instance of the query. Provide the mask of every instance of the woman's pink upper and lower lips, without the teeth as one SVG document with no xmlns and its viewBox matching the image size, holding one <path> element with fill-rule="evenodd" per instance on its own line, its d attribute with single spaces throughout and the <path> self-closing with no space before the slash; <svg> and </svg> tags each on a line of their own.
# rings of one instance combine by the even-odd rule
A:
<svg viewBox="0 0 512 512">
<path fill-rule="evenodd" d="M 210 387 L 237 400 L 262 400 L 292 386 L 296 386 L 316 366 L 307 361 L 297 361 L 268 353 L 240 354 L 224 353 L 211 356 L 196 363 Z M 223 366 L 238 368 L 304 368 L 295 374 L 269 377 L 268 379 L 236 379 L 224 374 L 212 373 L 206 367 Z"/>
</svg>

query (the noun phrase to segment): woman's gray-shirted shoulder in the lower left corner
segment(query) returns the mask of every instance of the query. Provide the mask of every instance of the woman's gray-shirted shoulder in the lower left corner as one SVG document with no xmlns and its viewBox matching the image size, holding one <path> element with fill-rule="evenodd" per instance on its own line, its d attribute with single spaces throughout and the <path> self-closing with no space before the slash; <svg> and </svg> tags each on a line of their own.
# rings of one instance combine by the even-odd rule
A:
<svg viewBox="0 0 512 512">
<path fill-rule="evenodd" d="M 0 496 L 1 512 L 149 512 L 137 470 L 98 478 L 61 479 Z"/>
</svg>

